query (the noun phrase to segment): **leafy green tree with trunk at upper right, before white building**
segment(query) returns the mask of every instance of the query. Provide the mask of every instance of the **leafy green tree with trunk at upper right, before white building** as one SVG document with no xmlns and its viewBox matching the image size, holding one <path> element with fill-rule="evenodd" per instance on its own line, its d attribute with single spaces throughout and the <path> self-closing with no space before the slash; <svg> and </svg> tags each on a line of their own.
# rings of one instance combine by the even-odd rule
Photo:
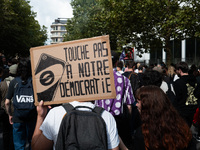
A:
<svg viewBox="0 0 200 150">
<path fill-rule="evenodd" d="M 197 29 L 196 12 L 193 10 L 191 1 L 187 0 L 145 0 L 137 3 L 141 7 L 140 22 L 144 27 L 139 40 L 145 43 L 145 49 L 152 47 L 164 48 L 167 55 L 167 64 L 171 63 L 171 39 L 185 39 L 194 37 Z M 143 34 L 145 33 L 146 34 Z M 137 42 L 137 41 L 136 41 Z M 159 44 L 160 43 L 160 44 Z M 139 47 L 138 49 L 143 52 Z"/>
</svg>

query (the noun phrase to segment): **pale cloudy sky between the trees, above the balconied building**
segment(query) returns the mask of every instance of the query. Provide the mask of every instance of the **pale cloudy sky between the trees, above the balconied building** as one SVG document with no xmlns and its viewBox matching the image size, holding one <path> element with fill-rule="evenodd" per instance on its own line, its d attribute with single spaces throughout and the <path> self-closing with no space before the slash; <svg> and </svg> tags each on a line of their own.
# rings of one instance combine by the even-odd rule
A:
<svg viewBox="0 0 200 150">
<path fill-rule="evenodd" d="M 71 0 L 30 0 L 32 10 L 37 13 L 40 26 L 45 25 L 50 38 L 50 26 L 57 18 L 72 18 Z M 47 44 L 49 44 L 48 39 Z"/>
</svg>

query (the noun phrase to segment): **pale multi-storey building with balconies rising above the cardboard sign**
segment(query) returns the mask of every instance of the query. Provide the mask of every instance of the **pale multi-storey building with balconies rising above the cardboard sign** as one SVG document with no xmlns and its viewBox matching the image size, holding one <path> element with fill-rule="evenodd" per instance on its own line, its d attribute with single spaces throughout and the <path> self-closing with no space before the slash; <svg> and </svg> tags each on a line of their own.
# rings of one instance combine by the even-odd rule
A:
<svg viewBox="0 0 200 150">
<path fill-rule="evenodd" d="M 66 31 L 66 23 L 68 18 L 58 18 L 51 25 L 51 44 L 63 42 L 63 36 Z"/>
</svg>

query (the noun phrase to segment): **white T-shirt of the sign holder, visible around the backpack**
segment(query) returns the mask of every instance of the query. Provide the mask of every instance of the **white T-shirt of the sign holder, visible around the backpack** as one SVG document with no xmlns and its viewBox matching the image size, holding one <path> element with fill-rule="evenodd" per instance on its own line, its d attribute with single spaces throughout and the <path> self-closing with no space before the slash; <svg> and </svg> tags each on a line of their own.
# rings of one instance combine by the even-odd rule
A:
<svg viewBox="0 0 200 150">
<path fill-rule="evenodd" d="M 95 105 L 91 102 L 77 102 L 73 101 L 70 103 L 74 107 L 76 106 L 88 106 L 94 108 Z M 81 108 L 89 111 L 87 108 Z M 40 130 L 42 130 L 43 135 L 49 139 L 53 140 L 54 142 L 54 150 L 55 144 L 57 141 L 58 131 L 60 128 L 60 124 L 62 121 L 63 116 L 65 115 L 66 111 L 62 106 L 54 107 L 49 111 L 47 114 L 44 122 L 42 123 Z M 107 111 L 103 111 L 102 118 L 106 123 L 106 131 L 107 131 L 107 140 L 108 140 L 108 149 L 113 149 L 119 145 L 119 136 L 116 127 L 116 122 L 114 117 Z"/>
</svg>

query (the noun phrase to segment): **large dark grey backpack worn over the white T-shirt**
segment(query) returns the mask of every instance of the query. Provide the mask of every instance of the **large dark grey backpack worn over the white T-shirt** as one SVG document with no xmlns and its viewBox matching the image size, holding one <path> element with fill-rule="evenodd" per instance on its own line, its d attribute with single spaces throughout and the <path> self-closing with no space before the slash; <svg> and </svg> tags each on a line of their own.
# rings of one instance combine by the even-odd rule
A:
<svg viewBox="0 0 200 150">
<path fill-rule="evenodd" d="M 73 107 L 63 105 L 67 113 L 60 125 L 56 150 L 107 150 L 106 124 L 101 117 L 101 107 L 94 109 L 87 106 Z M 81 111 L 77 108 L 88 108 L 92 111 Z"/>
</svg>

